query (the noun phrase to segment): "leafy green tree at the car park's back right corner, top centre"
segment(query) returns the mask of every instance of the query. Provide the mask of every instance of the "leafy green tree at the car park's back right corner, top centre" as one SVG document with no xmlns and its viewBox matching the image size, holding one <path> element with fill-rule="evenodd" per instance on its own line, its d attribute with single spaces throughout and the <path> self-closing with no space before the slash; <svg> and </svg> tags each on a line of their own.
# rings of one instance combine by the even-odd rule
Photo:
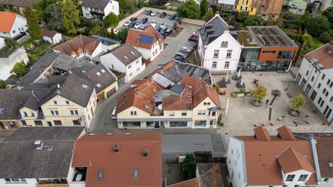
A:
<svg viewBox="0 0 333 187">
<path fill-rule="evenodd" d="M 200 6 L 194 0 L 187 0 L 177 8 L 178 17 L 198 19 L 200 17 Z"/>
</svg>

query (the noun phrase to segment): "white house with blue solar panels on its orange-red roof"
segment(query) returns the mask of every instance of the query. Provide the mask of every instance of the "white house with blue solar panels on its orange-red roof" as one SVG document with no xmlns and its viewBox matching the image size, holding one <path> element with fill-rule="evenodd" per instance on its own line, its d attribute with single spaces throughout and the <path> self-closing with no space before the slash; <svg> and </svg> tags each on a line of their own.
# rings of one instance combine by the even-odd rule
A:
<svg viewBox="0 0 333 187">
<path fill-rule="evenodd" d="M 154 60 L 164 50 L 164 39 L 153 26 L 144 30 L 130 28 L 126 44 L 137 48 L 147 60 Z"/>
</svg>

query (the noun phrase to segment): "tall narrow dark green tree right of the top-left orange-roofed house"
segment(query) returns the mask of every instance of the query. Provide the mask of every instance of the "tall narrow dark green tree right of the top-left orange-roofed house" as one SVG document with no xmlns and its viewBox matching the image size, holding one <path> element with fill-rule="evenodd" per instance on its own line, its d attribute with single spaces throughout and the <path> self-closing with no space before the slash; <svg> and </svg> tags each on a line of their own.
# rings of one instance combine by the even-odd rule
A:
<svg viewBox="0 0 333 187">
<path fill-rule="evenodd" d="M 38 25 L 37 20 L 37 12 L 35 12 L 31 6 L 24 6 L 24 17 L 26 17 L 26 22 L 29 28 L 29 34 L 33 39 L 41 39 L 42 38 L 42 30 Z"/>
</svg>

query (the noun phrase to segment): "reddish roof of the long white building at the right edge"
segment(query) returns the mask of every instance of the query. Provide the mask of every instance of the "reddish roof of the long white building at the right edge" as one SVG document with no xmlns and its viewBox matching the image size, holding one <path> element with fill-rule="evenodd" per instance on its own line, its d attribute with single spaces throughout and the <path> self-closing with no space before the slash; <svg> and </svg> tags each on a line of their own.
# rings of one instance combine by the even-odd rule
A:
<svg viewBox="0 0 333 187">
<path fill-rule="evenodd" d="M 314 66 L 317 64 L 323 64 L 323 69 L 331 69 L 333 68 L 333 46 L 331 44 L 325 44 L 314 51 L 307 53 L 305 58 L 309 62 L 316 58 L 318 62 L 314 63 Z"/>
</svg>

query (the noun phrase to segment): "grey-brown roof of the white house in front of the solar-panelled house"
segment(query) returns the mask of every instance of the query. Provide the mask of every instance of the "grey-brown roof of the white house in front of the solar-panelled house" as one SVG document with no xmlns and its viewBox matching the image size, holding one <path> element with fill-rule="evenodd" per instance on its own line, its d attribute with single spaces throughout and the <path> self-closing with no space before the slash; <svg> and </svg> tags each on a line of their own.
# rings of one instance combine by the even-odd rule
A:
<svg viewBox="0 0 333 187">
<path fill-rule="evenodd" d="M 123 44 L 117 48 L 110 51 L 117 59 L 119 59 L 125 66 L 142 57 L 142 54 L 137 51 L 130 44 Z"/>
</svg>

